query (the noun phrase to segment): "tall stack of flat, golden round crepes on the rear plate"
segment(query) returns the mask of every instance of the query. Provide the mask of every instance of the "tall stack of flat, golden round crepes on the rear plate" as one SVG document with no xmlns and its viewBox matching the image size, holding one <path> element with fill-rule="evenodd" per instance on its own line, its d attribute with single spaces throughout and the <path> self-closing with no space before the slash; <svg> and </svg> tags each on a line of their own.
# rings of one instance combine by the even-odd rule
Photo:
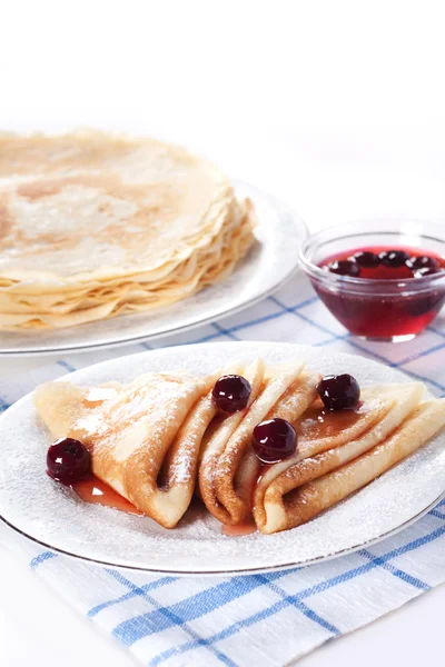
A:
<svg viewBox="0 0 445 667">
<path fill-rule="evenodd" d="M 159 308 L 228 276 L 251 203 L 212 165 L 155 140 L 0 136 L 0 328 Z"/>
</svg>

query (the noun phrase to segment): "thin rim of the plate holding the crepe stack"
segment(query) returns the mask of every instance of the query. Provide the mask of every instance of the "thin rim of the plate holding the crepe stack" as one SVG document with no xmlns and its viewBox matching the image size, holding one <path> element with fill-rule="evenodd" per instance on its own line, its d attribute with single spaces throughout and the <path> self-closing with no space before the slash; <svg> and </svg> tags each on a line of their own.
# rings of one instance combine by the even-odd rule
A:
<svg viewBox="0 0 445 667">
<path fill-rule="evenodd" d="M 270 195 L 267 190 L 263 190 L 261 188 L 253 186 L 241 179 L 231 178 L 230 182 L 234 185 L 235 190 L 237 187 L 247 188 L 249 191 L 251 191 L 254 193 L 254 196 L 257 195 L 258 197 L 265 198 L 277 210 L 285 209 L 287 215 L 289 215 L 291 217 L 294 227 L 299 237 L 299 242 L 303 242 L 305 239 L 307 239 L 307 237 L 309 236 L 308 227 L 307 227 L 306 222 L 304 221 L 304 219 L 294 210 L 294 208 L 290 205 L 283 201 L 281 199 L 275 197 L 275 195 Z M 112 349 L 112 348 L 122 347 L 125 345 L 131 345 L 135 342 L 157 340 L 159 338 L 175 336 L 175 335 L 181 334 L 184 331 L 191 331 L 200 326 L 208 325 L 209 322 L 212 322 L 219 318 L 236 315 L 247 308 L 250 308 L 251 306 L 255 306 L 263 299 L 267 298 L 269 295 L 277 291 L 280 287 L 283 287 L 283 285 L 285 285 L 294 276 L 296 276 L 299 272 L 299 270 L 300 269 L 299 269 L 298 252 L 296 252 L 294 265 L 287 271 L 287 273 L 284 277 L 281 277 L 278 281 L 273 281 L 273 283 L 268 288 L 264 289 L 258 295 L 238 303 L 237 306 L 228 307 L 225 310 L 222 310 L 216 315 L 205 316 L 205 317 L 201 317 L 201 318 L 195 320 L 194 322 L 181 325 L 181 326 L 169 328 L 169 329 L 165 329 L 157 334 L 141 334 L 141 335 L 137 335 L 134 337 L 130 336 L 125 339 L 115 340 L 115 341 L 93 342 L 93 344 L 87 342 L 87 344 L 77 345 L 76 347 L 72 347 L 68 344 L 63 345 L 61 347 L 40 347 L 40 348 L 36 348 L 36 349 L 23 349 L 23 350 L 20 350 L 20 349 L 13 348 L 13 347 L 10 347 L 10 348 L 6 347 L 4 349 L 1 349 L 1 347 L 0 347 L 0 358 L 1 357 L 36 357 L 36 356 L 43 356 L 43 355 L 50 356 L 50 355 L 59 355 L 59 354 L 65 354 L 65 352 L 83 352 L 83 351 L 89 351 L 89 350 L 108 349 L 108 348 Z M 190 298 L 192 298 L 192 296 Z M 118 320 L 118 318 L 116 318 L 116 320 Z M 0 336 L 1 336 L 1 331 L 0 331 Z"/>
</svg>

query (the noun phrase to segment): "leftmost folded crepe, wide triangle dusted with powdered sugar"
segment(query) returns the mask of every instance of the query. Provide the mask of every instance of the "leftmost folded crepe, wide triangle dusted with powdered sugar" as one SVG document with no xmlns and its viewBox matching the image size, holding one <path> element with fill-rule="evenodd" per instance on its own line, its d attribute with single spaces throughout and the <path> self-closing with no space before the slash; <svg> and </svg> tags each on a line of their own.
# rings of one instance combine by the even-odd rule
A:
<svg viewBox="0 0 445 667">
<path fill-rule="evenodd" d="M 83 442 L 99 479 L 172 528 L 194 494 L 199 447 L 216 410 L 212 381 L 149 374 L 92 389 L 49 382 L 37 388 L 34 405 L 56 438 Z"/>
</svg>

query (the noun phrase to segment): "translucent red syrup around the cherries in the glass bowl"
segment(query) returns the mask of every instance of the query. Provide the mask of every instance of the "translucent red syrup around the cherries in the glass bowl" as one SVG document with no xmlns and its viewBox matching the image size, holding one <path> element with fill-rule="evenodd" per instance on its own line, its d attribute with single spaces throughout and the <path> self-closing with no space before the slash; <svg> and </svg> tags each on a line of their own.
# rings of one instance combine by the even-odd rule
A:
<svg viewBox="0 0 445 667">
<path fill-rule="evenodd" d="M 419 250 L 418 248 L 388 246 L 374 246 L 355 248 L 333 255 L 319 263 L 319 267 L 334 266 L 334 262 L 348 260 L 359 252 L 379 255 L 395 249 L 404 251 L 409 258 L 428 257 L 435 265 L 435 271 L 445 270 L 445 259 L 435 252 Z M 334 276 L 334 273 L 333 273 Z M 434 278 L 434 276 L 432 276 Z M 385 266 L 379 261 L 377 266 L 360 266 L 357 280 L 366 279 L 363 293 L 354 293 L 347 281 L 339 285 L 337 291 L 325 288 L 323 282 L 314 281 L 313 286 L 319 298 L 330 312 L 355 336 L 376 339 L 393 339 L 397 337 L 413 337 L 429 325 L 445 301 L 445 286 L 443 282 L 434 285 L 434 280 L 424 291 L 416 293 L 415 270 L 409 267 L 409 261 L 402 266 Z M 399 281 L 411 279 L 406 287 L 392 289 L 389 283 L 373 286 L 370 280 Z M 418 286 L 421 288 L 421 286 Z M 387 293 L 385 293 L 387 292 Z M 405 292 L 405 293 L 403 293 Z M 411 292 L 411 293 L 406 293 Z"/>
</svg>

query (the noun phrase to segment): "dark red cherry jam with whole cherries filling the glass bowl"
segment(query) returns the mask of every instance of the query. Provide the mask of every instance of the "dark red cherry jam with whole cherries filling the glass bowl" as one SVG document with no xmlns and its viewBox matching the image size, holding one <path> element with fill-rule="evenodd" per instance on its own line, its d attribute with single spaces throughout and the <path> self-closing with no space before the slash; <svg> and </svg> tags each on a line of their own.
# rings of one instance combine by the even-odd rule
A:
<svg viewBox="0 0 445 667">
<path fill-rule="evenodd" d="M 438 275 L 445 259 L 435 252 L 409 247 L 375 246 L 333 255 L 319 265 L 327 272 L 345 278 L 366 279 L 363 290 L 337 283 L 336 290 L 324 281 L 313 286 L 330 312 L 355 336 L 375 339 L 409 339 L 436 317 L 445 301 L 445 283 L 418 286 L 416 280 Z M 409 283 L 403 283 L 405 280 Z M 376 283 L 370 280 L 386 280 Z M 392 285 L 394 281 L 394 286 Z M 399 286 L 397 286 L 398 283 Z"/>
</svg>

